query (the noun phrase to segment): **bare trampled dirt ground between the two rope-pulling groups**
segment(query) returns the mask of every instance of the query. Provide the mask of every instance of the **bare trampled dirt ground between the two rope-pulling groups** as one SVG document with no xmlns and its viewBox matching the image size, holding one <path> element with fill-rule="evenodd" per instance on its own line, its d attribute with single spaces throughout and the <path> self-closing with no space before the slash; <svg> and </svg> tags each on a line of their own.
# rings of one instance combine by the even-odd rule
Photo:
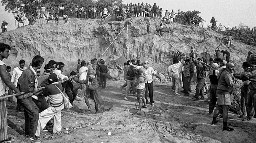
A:
<svg viewBox="0 0 256 143">
<path fill-rule="evenodd" d="M 223 121 L 211 125 L 212 115 L 208 114 L 205 101 L 193 101 L 195 86 L 190 96 L 174 95 L 171 83 L 154 83 L 155 106 L 142 108 L 142 114 L 133 116 L 138 101 L 134 96 L 124 100 L 120 86 L 124 81 L 108 81 L 106 89 L 99 89 L 103 105 L 98 114 L 93 108 L 85 112 L 84 101 L 75 101 L 74 109 L 61 113 L 63 132 L 52 135 L 42 131 L 43 143 L 255 143 L 256 120 L 241 121 L 238 115 L 229 113 L 232 119 L 228 125 L 234 132 L 222 131 Z M 182 89 L 180 89 L 182 90 Z M 179 90 L 179 93 L 180 93 Z M 7 102 L 9 136 L 14 139 L 6 143 L 30 142 L 24 136 L 24 113 L 15 110 L 16 104 Z M 111 135 L 108 135 L 111 134 Z"/>
</svg>

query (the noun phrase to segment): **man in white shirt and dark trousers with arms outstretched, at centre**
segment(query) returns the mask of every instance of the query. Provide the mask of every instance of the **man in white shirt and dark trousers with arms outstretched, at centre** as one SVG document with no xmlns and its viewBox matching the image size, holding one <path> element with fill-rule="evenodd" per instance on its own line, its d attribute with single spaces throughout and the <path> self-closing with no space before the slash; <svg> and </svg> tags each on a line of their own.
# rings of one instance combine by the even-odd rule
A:
<svg viewBox="0 0 256 143">
<path fill-rule="evenodd" d="M 149 99 L 150 99 L 150 103 L 152 106 L 154 106 L 154 97 L 153 97 L 153 93 L 154 93 L 154 86 L 153 86 L 153 75 L 157 76 L 157 73 L 154 71 L 154 69 L 152 67 L 149 66 L 149 61 L 144 61 L 144 65 L 143 66 L 137 66 L 137 65 L 133 65 L 131 62 L 129 63 L 132 67 L 135 67 L 136 70 L 139 70 L 141 68 L 144 69 L 144 74 L 146 75 L 145 79 L 145 99 L 146 99 L 146 104 L 147 104 L 147 91 L 149 92 Z"/>
</svg>

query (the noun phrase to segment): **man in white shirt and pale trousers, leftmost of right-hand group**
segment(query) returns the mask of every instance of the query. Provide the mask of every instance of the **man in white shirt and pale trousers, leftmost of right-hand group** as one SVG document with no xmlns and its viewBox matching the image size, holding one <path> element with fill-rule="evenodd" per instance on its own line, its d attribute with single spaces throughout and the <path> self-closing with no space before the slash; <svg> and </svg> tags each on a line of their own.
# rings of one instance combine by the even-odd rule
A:
<svg viewBox="0 0 256 143">
<path fill-rule="evenodd" d="M 181 59 L 178 63 L 175 63 L 168 67 L 169 76 L 171 76 L 173 80 L 173 90 L 175 91 L 174 93 L 175 95 L 180 95 L 178 93 L 178 90 L 179 90 L 179 76 L 183 70 L 182 62 L 183 62 L 183 59 Z"/>
</svg>

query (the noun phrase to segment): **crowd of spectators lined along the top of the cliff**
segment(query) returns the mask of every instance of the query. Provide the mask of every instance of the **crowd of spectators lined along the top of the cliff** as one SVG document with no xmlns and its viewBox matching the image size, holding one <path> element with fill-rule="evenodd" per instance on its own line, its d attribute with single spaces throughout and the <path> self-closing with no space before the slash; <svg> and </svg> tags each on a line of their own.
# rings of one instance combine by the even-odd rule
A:
<svg viewBox="0 0 256 143">
<path fill-rule="evenodd" d="M 160 8 L 159 6 L 154 3 L 154 5 L 150 5 L 148 3 L 138 3 L 137 4 L 127 4 L 117 6 L 115 5 L 113 8 L 113 14 L 111 14 L 108 11 L 108 6 L 86 6 L 76 5 L 75 7 L 65 7 L 65 5 L 57 5 L 57 6 L 48 6 L 45 7 L 45 5 L 38 5 L 36 7 L 36 12 L 32 15 L 26 15 L 23 12 L 17 14 L 15 16 L 15 20 L 18 22 L 18 28 L 19 23 L 22 23 L 24 26 L 24 20 L 28 19 L 29 24 L 33 25 L 36 20 L 40 18 L 47 19 L 47 23 L 50 20 L 55 20 L 56 22 L 59 19 L 63 19 L 65 23 L 68 20 L 68 15 L 70 17 L 74 18 L 101 18 L 104 19 L 104 22 L 106 22 L 106 18 L 110 17 L 111 15 L 115 16 L 116 21 L 121 21 L 127 18 L 131 17 L 151 17 L 151 18 L 159 18 L 165 21 L 166 23 L 173 22 L 175 16 L 177 13 L 175 13 L 173 10 L 171 12 L 164 13 L 164 17 L 162 18 L 163 14 L 163 8 Z"/>
</svg>

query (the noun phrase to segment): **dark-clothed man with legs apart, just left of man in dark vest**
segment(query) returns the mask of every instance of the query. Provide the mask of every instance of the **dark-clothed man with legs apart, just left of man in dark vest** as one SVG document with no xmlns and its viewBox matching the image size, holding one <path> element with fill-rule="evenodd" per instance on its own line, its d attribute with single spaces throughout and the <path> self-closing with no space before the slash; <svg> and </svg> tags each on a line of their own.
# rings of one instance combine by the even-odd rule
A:
<svg viewBox="0 0 256 143">
<path fill-rule="evenodd" d="M 204 83 L 206 79 L 206 71 L 208 70 L 208 67 L 203 62 L 202 58 L 199 58 L 199 63 L 196 66 L 196 74 L 198 78 L 198 84 L 196 85 L 196 94 L 192 97 L 194 100 L 199 99 L 199 95 L 201 96 L 201 99 L 204 99 Z"/>
</svg>

